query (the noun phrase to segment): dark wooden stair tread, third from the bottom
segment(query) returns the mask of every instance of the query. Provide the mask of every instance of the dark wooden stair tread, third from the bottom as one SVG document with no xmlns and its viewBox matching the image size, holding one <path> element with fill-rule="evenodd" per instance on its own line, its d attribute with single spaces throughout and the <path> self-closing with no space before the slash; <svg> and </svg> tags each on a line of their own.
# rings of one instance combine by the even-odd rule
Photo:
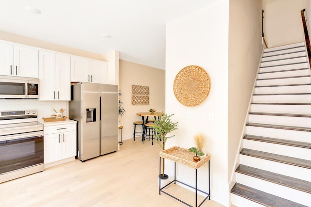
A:
<svg viewBox="0 0 311 207">
<path fill-rule="evenodd" d="M 307 159 L 293 158 L 289 156 L 277 155 L 269 152 L 262 152 L 246 148 L 243 148 L 240 154 L 311 169 L 311 160 Z"/>
</svg>

